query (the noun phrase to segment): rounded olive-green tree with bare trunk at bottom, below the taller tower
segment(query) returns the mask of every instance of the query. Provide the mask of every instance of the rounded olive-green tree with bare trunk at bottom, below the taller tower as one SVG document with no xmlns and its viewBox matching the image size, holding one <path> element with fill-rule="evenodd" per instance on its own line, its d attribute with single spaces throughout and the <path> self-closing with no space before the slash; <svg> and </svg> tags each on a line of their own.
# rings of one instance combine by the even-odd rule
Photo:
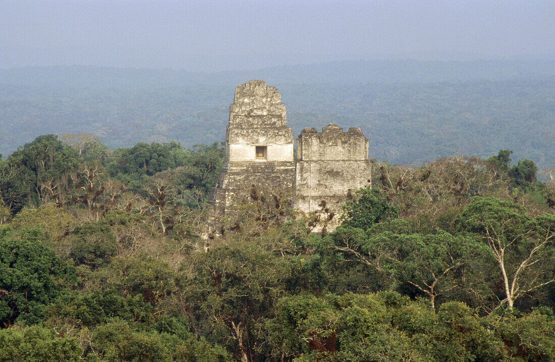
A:
<svg viewBox="0 0 555 362">
<path fill-rule="evenodd" d="M 195 261 L 184 292 L 195 328 L 225 341 L 237 360 L 257 360 L 260 324 L 286 278 L 278 260 L 254 246 L 210 249 Z"/>
</svg>

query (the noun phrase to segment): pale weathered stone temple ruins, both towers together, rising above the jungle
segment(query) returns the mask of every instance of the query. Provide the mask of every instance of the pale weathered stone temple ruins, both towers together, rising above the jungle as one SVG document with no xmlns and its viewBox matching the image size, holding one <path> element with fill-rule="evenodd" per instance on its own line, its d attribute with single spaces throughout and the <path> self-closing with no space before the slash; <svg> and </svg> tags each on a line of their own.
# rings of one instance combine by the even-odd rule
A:
<svg viewBox="0 0 555 362">
<path fill-rule="evenodd" d="M 255 185 L 290 195 L 297 210 L 325 219 L 327 230 L 334 229 L 341 205 L 370 178 L 368 139 L 355 127 L 348 132 L 335 124 L 322 132 L 305 128 L 297 138 L 296 162 L 293 142 L 278 89 L 264 81 L 237 86 L 224 168 L 212 196 L 215 217 L 233 213 Z"/>
</svg>

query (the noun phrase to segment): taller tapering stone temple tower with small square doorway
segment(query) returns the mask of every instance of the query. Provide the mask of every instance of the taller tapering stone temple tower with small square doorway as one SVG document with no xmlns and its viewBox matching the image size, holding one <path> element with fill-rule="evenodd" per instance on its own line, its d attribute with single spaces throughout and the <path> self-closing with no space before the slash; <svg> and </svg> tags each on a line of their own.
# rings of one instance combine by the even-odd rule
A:
<svg viewBox="0 0 555 362">
<path fill-rule="evenodd" d="M 266 86 L 264 81 L 236 87 L 234 103 L 229 107 L 224 172 L 213 196 L 216 215 L 233 212 L 235 205 L 248 195 L 251 185 L 291 190 L 292 194 L 293 142 L 278 89 Z M 256 158 L 256 146 L 266 148 L 263 159 Z"/>
</svg>

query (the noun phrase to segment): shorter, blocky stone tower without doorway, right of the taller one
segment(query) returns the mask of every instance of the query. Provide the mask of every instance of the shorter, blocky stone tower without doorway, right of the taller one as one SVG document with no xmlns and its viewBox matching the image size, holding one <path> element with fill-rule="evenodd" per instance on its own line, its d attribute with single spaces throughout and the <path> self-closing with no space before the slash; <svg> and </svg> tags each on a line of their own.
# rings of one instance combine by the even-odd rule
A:
<svg viewBox="0 0 555 362">
<path fill-rule="evenodd" d="M 349 192 L 365 187 L 370 178 L 368 139 L 360 128 L 344 132 L 330 124 L 321 133 L 305 128 L 297 138 L 297 156 L 295 208 L 320 214 L 331 231 Z"/>
</svg>

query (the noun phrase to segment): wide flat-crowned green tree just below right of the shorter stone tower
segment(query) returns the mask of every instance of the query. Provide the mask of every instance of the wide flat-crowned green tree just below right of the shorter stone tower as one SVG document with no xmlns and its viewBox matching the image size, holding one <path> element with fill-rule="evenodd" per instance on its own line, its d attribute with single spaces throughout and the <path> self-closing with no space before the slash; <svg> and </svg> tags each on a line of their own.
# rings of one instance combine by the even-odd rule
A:
<svg viewBox="0 0 555 362">
<path fill-rule="evenodd" d="M 355 260 L 387 276 L 389 283 L 412 285 L 430 299 L 457 288 L 458 278 L 467 263 L 485 252 L 480 243 L 463 235 L 397 234 L 408 231 L 402 223 L 377 224 L 368 232 L 340 227 L 330 235 L 332 248 L 346 260 Z"/>
</svg>

